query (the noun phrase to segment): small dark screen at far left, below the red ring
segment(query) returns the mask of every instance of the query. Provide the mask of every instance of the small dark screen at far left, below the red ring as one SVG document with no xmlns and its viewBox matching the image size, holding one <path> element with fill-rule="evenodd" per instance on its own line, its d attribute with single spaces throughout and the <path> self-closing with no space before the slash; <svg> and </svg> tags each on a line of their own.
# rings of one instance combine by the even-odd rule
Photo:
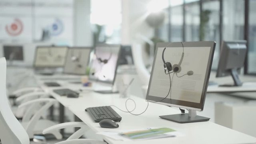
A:
<svg viewBox="0 0 256 144">
<path fill-rule="evenodd" d="M 23 46 L 4 45 L 4 57 L 6 60 L 23 61 Z"/>
</svg>

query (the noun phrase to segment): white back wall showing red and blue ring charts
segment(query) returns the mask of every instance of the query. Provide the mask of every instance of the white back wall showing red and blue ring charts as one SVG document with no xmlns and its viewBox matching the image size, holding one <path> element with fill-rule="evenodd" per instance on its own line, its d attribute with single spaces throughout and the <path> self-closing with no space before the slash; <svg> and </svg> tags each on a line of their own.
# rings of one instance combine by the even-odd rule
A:
<svg viewBox="0 0 256 144">
<path fill-rule="evenodd" d="M 72 6 L 73 0 L 0 0 L 0 42 L 39 41 L 42 30 L 48 29 L 49 42 L 72 45 Z M 18 29 L 13 29 L 13 24 Z M 20 28 L 17 35 L 10 34 L 10 31 L 19 32 Z"/>
</svg>

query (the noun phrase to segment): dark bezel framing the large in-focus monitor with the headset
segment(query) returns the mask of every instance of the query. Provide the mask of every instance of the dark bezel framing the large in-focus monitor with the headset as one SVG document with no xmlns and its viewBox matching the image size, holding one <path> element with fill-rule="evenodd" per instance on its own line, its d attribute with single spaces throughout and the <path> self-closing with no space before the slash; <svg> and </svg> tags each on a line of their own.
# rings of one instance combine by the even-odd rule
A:
<svg viewBox="0 0 256 144">
<path fill-rule="evenodd" d="M 147 94 L 146 94 L 146 100 L 150 100 L 150 101 L 154 101 L 154 103 L 158 103 L 158 104 L 164 104 L 164 105 L 168 105 L 168 106 L 174 106 L 174 107 L 179 107 L 179 108 L 186 108 L 186 109 L 190 109 L 190 110 L 197 110 L 197 111 L 202 111 L 204 109 L 204 102 L 205 102 L 205 97 L 206 97 L 206 92 L 207 92 L 207 87 L 208 87 L 208 82 L 209 82 L 209 78 L 210 78 L 210 71 L 211 71 L 211 67 L 212 67 L 212 60 L 213 60 L 213 56 L 214 56 L 214 50 L 215 50 L 215 46 L 216 46 L 216 42 L 214 41 L 204 41 L 204 42 L 183 42 L 184 47 L 210 47 L 210 53 L 209 53 L 209 58 L 208 58 L 208 64 L 207 64 L 207 69 L 206 69 L 206 74 L 205 74 L 205 78 L 204 78 L 204 86 L 202 89 L 202 95 L 201 95 L 201 100 L 200 103 L 194 103 L 194 102 L 187 102 L 187 101 L 182 101 L 182 100 L 171 100 L 171 103 L 165 103 L 165 102 L 156 102 L 158 100 L 161 100 L 162 97 L 156 97 L 156 96 L 150 96 L 149 95 L 149 90 L 150 90 L 150 86 L 151 86 L 151 81 L 152 81 L 152 75 L 154 72 L 154 65 L 156 62 L 156 54 L 158 52 L 158 48 L 163 48 L 168 46 L 169 47 L 180 47 L 181 44 L 180 42 L 160 42 L 156 44 L 156 52 L 155 52 L 155 56 L 154 56 L 154 62 L 152 65 L 152 70 L 151 70 L 151 75 L 150 75 L 150 81 L 148 84 L 148 90 L 147 90 Z M 164 68 L 163 68 L 164 70 Z M 170 100 L 170 98 L 166 98 L 167 100 Z"/>
</svg>

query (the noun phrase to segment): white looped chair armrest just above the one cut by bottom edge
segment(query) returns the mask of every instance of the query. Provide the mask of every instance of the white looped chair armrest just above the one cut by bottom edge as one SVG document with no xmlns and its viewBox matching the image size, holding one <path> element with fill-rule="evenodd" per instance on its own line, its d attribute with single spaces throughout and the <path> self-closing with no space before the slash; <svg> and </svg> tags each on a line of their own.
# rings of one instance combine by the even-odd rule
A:
<svg viewBox="0 0 256 144">
<path fill-rule="evenodd" d="M 86 131 L 87 125 L 84 122 L 66 122 L 62 124 L 57 124 L 55 126 L 51 126 L 50 128 L 46 128 L 42 134 L 53 134 L 56 139 L 61 140 L 62 135 L 60 134 L 59 130 L 63 128 L 74 128 L 79 127 L 80 129 L 74 132 L 68 140 L 78 139 L 80 138 Z"/>
</svg>

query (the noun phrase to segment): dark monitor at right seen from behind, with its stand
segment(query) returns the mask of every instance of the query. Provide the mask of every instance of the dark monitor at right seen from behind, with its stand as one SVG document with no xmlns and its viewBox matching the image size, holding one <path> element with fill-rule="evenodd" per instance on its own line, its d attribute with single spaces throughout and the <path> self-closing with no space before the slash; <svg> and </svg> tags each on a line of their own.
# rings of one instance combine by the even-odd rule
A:
<svg viewBox="0 0 256 144">
<path fill-rule="evenodd" d="M 242 86 L 238 75 L 240 74 L 241 68 L 244 66 L 246 58 L 246 43 L 246 40 L 222 42 L 216 77 L 231 75 L 234 80 L 234 85 L 226 84 L 222 86 Z"/>
</svg>

